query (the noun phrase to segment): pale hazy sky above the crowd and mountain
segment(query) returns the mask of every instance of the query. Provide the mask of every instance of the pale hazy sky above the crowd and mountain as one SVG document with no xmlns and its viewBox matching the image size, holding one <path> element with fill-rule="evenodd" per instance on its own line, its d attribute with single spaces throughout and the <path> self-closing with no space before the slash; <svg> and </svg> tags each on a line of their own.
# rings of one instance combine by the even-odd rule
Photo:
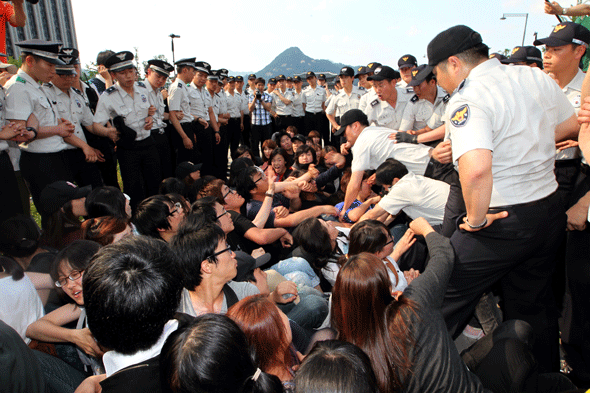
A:
<svg viewBox="0 0 590 393">
<path fill-rule="evenodd" d="M 133 47 L 140 61 L 159 54 L 172 61 L 174 33 L 181 36 L 174 40 L 176 60 L 196 56 L 214 69 L 241 72 L 262 69 L 291 46 L 316 59 L 397 68 L 406 53 L 425 63 L 430 40 L 457 24 L 481 33 L 495 52 L 522 42 L 525 18 L 500 20 L 503 13 L 529 14 L 525 45 L 557 23 L 543 13 L 542 0 L 72 0 L 72 6 L 84 65 L 101 50 Z"/>
</svg>

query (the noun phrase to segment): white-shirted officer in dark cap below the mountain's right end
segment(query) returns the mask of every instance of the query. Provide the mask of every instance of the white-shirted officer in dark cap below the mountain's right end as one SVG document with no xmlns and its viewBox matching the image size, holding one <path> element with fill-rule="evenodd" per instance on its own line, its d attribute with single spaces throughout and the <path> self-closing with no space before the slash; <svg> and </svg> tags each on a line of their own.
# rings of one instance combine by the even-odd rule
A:
<svg viewBox="0 0 590 393">
<path fill-rule="evenodd" d="M 357 109 L 361 97 L 367 92 L 364 88 L 354 86 L 354 70 L 351 67 L 343 67 L 338 74 L 342 89 L 334 98 L 330 100 L 330 104 L 326 109 L 326 117 L 332 124 L 332 132 L 340 129 L 340 116 L 345 114 L 350 109 Z M 340 146 L 340 138 L 333 137 L 332 145 Z"/>
</svg>

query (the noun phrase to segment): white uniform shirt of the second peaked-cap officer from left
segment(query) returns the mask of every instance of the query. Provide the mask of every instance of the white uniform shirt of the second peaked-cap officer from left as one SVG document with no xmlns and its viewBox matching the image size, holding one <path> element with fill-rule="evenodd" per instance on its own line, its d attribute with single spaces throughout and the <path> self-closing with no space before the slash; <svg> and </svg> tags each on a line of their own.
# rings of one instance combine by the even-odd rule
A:
<svg viewBox="0 0 590 393">
<path fill-rule="evenodd" d="M 59 118 L 69 120 L 74 125 L 74 135 L 86 142 L 86 135 L 82 126 L 91 127 L 93 123 L 90 104 L 78 89 L 70 88 L 69 94 L 64 93 L 52 83 L 42 86 L 45 95 L 57 111 Z M 76 146 L 66 144 L 68 149 L 76 149 Z"/>
</svg>

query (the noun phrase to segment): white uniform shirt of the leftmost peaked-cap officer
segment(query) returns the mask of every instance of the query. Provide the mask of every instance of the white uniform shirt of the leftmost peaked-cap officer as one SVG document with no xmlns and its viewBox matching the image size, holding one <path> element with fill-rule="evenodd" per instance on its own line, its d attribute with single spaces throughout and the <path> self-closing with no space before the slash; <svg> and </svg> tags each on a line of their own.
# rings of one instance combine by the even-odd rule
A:
<svg viewBox="0 0 590 393">
<path fill-rule="evenodd" d="M 27 120 L 35 115 L 39 127 L 57 126 L 57 115 L 41 85 L 26 72 L 19 69 L 6 82 L 6 119 Z M 68 147 L 63 138 L 54 135 L 37 139 L 29 144 L 21 143 L 20 148 L 31 153 L 56 153 Z"/>
</svg>

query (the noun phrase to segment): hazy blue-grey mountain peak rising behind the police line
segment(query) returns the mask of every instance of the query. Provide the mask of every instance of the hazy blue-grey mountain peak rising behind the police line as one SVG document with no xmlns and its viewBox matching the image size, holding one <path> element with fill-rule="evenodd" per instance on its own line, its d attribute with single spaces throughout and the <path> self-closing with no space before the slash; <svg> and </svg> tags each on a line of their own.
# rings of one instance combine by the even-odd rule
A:
<svg viewBox="0 0 590 393">
<path fill-rule="evenodd" d="M 344 66 L 345 64 L 333 63 L 330 60 L 312 59 L 306 56 L 301 49 L 293 46 L 284 50 L 269 65 L 255 74 L 266 79 L 274 78 L 279 74 L 286 76 L 300 75 L 307 71 L 313 71 L 315 73 L 332 72 L 337 75 Z"/>
</svg>

